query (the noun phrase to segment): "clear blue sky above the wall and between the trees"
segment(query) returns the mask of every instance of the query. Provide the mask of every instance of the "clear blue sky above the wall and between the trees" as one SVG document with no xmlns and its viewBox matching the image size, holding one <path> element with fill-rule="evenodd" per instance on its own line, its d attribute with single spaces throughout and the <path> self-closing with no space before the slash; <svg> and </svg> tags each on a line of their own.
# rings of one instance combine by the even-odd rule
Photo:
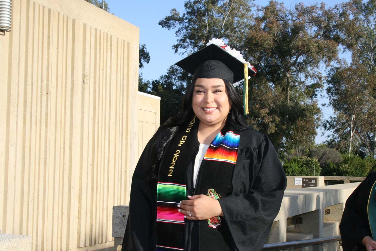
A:
<svg viewBox="0 0 376 251">
<path fill-rule="evenodd" d="M 121 19 L 139 27 L 139 42 L 146 44 L 150 53 L 150 63 L 146 64 L 141 70 L 145 79 L 157 79 L 166 73 L 167 68 L 183 58 L 173 52 L 172 46 L 176 43 L 175 32 L 173 30 L 162 29 L 158 25 L 159 20 L 170 14 L 170 10 L 175 8 L 182 13 L 184 11 L 184 0 L 106 0 L 110 12 Z M 297 2 L 306 4 L 315 3 L 314 1 L 283 1 L 286 6 L 294 5 Z M 326 1 L 325 3 L 334 6 L 337 3 L 344 2 L 340 0 Z M 255 0 L 256 5 L 265 6 L 268 1 Z M 252 63 L 252 62 L 251 62 Z M 323 93 L 325 94 L 325 93 Z M 327 103 L 327 99 L 319 99 L 319 103 Z M 322 108 L 323 117 L 327 118 L 332 114 L 330 108 Z M 324 141 L 321 136 L 321 130 L 318 129 L 316 143 Z"/>
</svg>

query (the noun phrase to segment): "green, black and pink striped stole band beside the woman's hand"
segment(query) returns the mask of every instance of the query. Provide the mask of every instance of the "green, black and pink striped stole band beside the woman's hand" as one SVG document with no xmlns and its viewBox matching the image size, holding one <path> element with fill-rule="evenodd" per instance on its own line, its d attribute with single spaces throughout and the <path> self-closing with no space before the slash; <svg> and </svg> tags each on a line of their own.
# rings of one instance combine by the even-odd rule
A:
<svg viewBox="0 0 376 251">
<path fill-rule="evenodd" d="M 184 224 L 184 214 L 177 207 L 186 199 L 183 184 L 158 182 L 157 184 L 157 222 Z"/>
</svg>

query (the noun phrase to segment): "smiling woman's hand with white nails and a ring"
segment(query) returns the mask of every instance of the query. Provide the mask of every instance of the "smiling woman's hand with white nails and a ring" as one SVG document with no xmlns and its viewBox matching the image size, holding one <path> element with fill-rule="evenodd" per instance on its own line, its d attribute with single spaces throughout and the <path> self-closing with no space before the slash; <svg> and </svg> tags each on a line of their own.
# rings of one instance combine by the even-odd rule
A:
<svg viewBox="0 0 376 251">
<path fill-rule="evenodd" d="M 188 196 L 188 200 L 181 201 L 178 207 L 189 220 L 206 220 L 214 216 L 223 216 L 218 200 L 203 194 Z"/>
</svg>

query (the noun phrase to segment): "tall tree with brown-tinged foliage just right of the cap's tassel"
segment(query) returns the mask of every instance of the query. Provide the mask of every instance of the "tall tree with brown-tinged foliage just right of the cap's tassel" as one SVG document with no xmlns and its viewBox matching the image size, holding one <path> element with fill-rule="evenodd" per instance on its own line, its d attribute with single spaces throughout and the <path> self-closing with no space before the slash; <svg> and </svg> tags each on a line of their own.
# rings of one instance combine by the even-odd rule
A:
<svg viewBox="0 0 376 251">
<path fill-rule="evenodd" d="M 337 58 L 336 13 L 275 1 L 261 8 L 243 51 L 258 69 L 250 87 L 250 123 L 266 132 L 280 151 L 302 152 L 314 143 L 323 76 L 318 68 Z"/>
</svg>

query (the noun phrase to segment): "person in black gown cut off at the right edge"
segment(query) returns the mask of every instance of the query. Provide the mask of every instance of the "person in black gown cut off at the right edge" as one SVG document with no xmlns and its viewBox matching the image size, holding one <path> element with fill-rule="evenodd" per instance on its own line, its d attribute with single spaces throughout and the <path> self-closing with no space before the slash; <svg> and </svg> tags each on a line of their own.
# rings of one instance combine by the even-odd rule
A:
<svg viewBox="0 0 376 251">
<path fill-rule="evenodd" d="M 376 172 L 370 173 L 346 201 L 340 231 L 343 251 L 376 250 Z"/>
</svg>

